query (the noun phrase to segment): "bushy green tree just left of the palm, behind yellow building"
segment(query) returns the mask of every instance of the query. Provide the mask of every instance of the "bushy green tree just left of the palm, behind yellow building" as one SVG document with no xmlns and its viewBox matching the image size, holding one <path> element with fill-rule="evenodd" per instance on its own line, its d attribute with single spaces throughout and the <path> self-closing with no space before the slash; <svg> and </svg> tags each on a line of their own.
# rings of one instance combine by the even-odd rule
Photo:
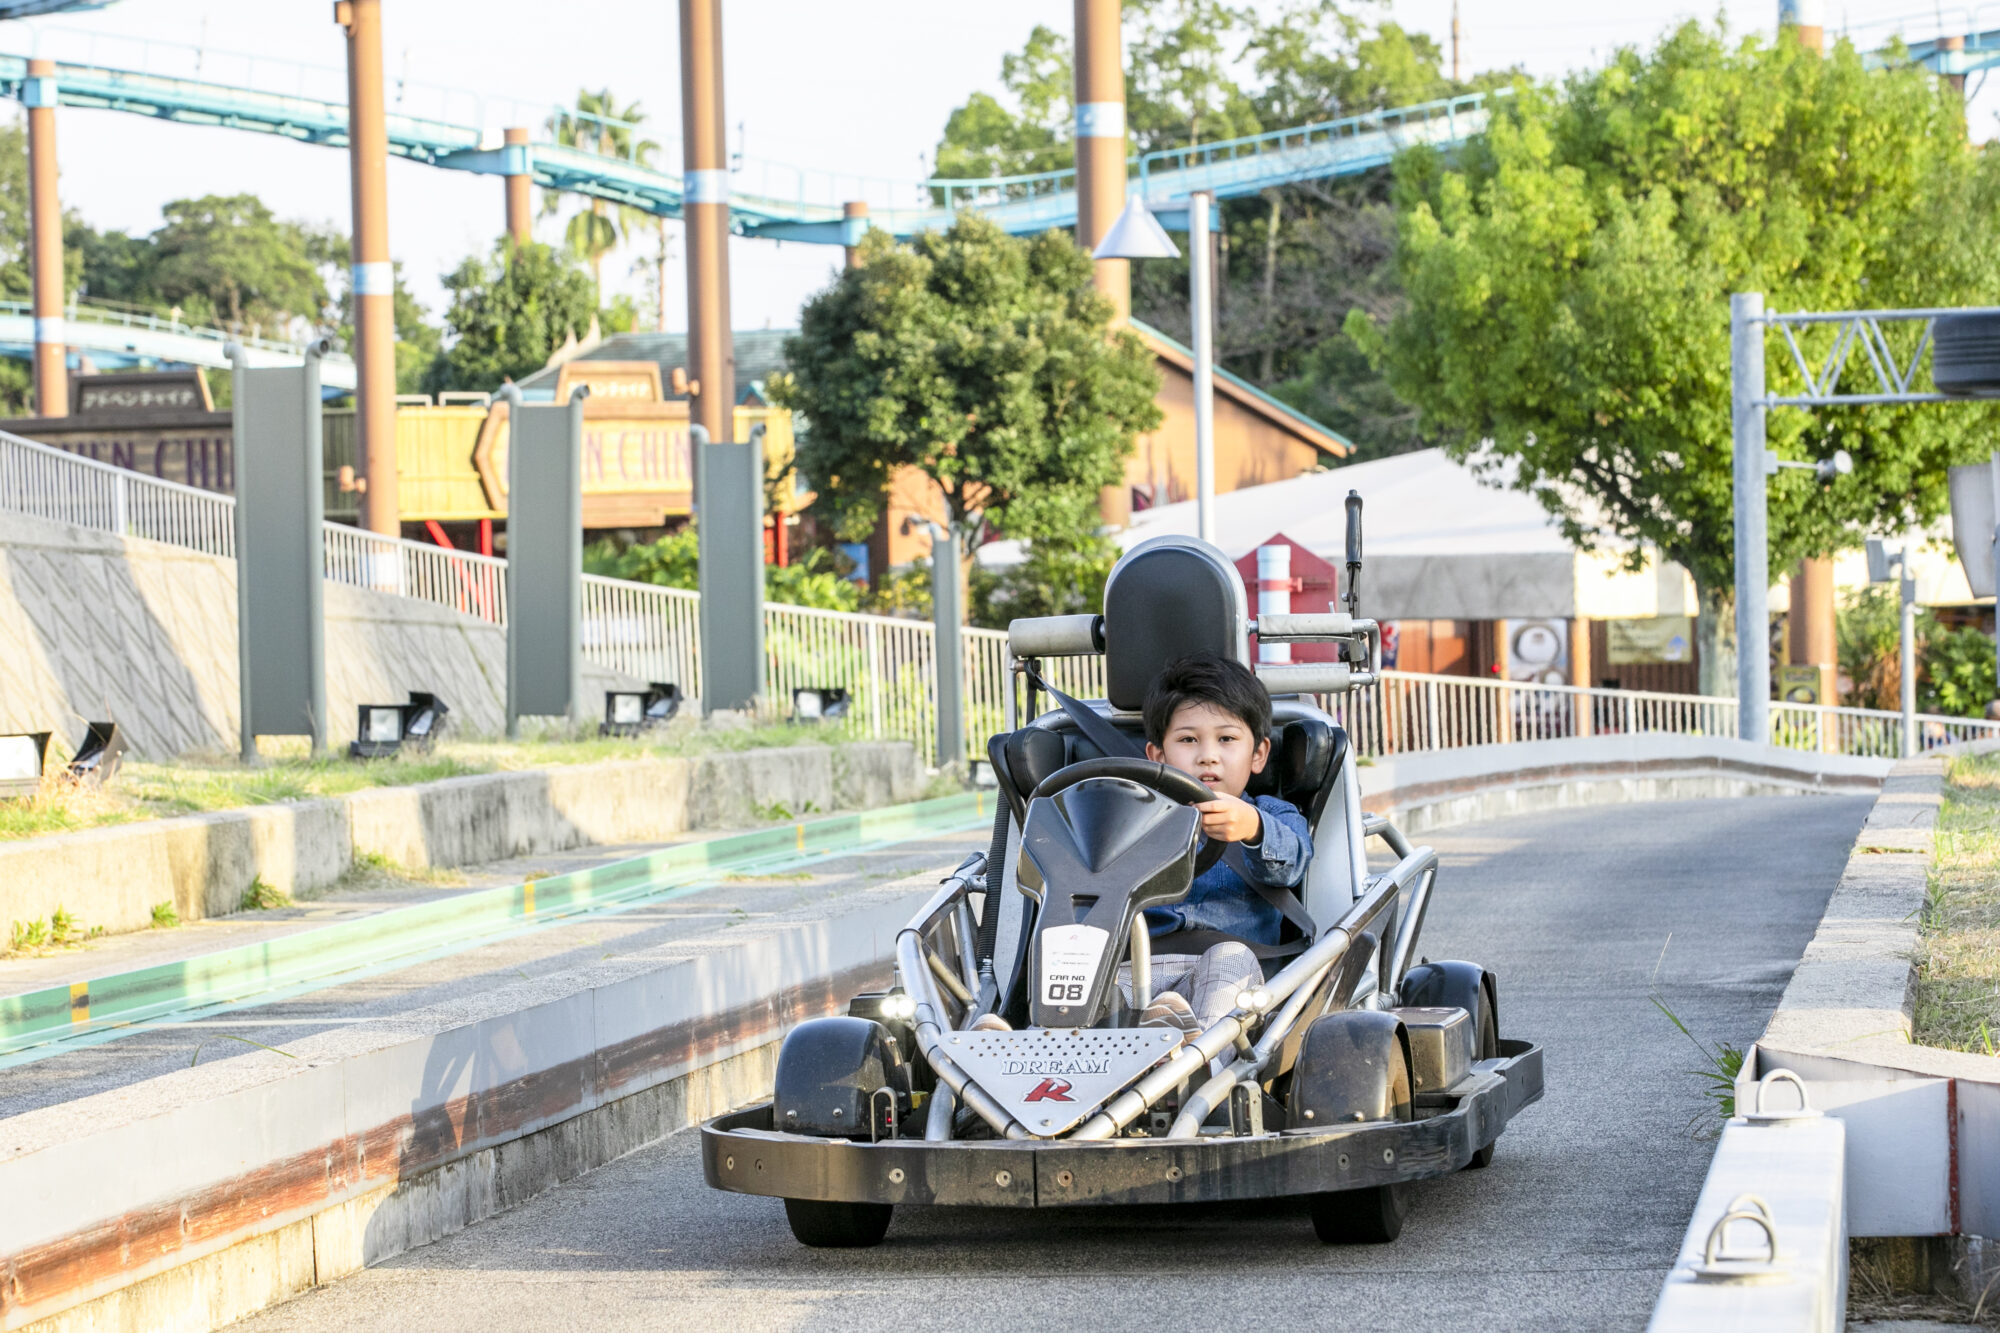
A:
<svg viewBox="0 0 2000 1333">
<path fill-rule="evenodd" d="M 582 264 L 544 244 L 502 240 L 444 278 L 452 344 L 426 380 L 430 392 L 492 390 L 548 364 L 564 338 L 588 328 L 596 284 Z"/>
</svg>

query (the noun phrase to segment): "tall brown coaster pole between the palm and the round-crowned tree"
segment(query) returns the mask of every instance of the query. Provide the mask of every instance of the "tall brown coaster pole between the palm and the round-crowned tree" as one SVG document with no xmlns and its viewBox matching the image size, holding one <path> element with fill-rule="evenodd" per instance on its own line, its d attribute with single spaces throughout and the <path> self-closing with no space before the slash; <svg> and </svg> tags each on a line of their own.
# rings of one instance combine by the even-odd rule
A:
<svg viewBox="0 0 2000 1333">
<path fill-rule="evenodd" d="M 730 336 L 730 172 L 722 118 L 722 0 L 680 0 L 680 126 L 688 230 L 688 416 L 714 442 L 734 440 L 736 348 Z"/>
</svg>

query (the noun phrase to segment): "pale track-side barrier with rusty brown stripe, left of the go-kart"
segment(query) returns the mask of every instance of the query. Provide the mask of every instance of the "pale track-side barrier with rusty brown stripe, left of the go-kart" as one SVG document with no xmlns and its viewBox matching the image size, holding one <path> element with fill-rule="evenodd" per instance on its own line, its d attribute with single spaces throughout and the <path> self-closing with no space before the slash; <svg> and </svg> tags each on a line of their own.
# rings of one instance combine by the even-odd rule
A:
<svg viewBox="0 0 2000 1333">
<path fill-rule="evenodd" d="M 0 1329 L 206 1333 L 752 1101 L 930 879 L 0 1121 Z"/>
</svg>

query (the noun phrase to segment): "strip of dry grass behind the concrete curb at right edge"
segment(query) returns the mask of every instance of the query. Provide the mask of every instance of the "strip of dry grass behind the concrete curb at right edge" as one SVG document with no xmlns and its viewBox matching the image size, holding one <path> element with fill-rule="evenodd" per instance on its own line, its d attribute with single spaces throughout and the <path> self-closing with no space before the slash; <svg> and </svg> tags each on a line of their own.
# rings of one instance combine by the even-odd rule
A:
<svg viewBox="0 0 2000 1333">
<path fill-rule="evenodd" d="M 1952 763 L 1918 943 L 1926 1047 L 1996 1055 L 2000 1035 L 2000 755 Z"/>
</svg>

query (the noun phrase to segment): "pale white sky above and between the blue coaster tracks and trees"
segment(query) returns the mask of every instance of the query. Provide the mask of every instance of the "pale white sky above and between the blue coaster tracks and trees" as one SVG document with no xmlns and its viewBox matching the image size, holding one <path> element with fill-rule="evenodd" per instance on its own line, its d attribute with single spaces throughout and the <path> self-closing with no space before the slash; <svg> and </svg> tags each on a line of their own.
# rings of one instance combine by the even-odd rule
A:
<svg viewBox="0 0 2000 1333">
<path fill-rule="evenodd" d="M 1266 6 L 1270 0 L 1254 0 Z M 384 66 L 412 112 L 442 110 L 486 128 L 540 124 L 578 88 L 638 100 L 664 162 L 680 158 L 680 54 L 672 0 L 384 0 Z M 1626 44 L 1722 14 L 1732 30 L 1770 30 L 1776 0 L 1460 0 L 1466 70 L 1520 64 L 1536 76 L 1600 64 Z M 1380 18 L 1448 46 L 1452 0 L 1392 0 Z M 2000 4 L 1824 0 L 1828 28 L 1874 46 L 1890 32 L 2000 26 Z M 998 90 L 1000 58 L 1034 24 L 1068 30 L 1070 0 L 724 0 L 730 146 L 750 158 L 826 172 L 916 180 L 946 116 L 974 90 Z M 50 20 L 0 22 L 0 52 L 154 68 L 344 100 L 344 44 L 326 0 L 118 0 Z M 1978 78 L 1978 76 L 1974 76 Z M 2000 130 L 2000 80 L 1972 104 L 1974 134 Z M 8 104 L 4 114 L 18 114 Z M 348 224 L 346 154 L 222 128 L 64 108 L 62 202 L 98 228 L 148 232 L 160 206 L 200 194 L 256 192 L 278 216 Z M 540 202 L 540 196 L 538 196 Z M 574 204 L 572 204 L 574 206 Z M 498 176 L 390 158 L 390 248 L 418 300 L 440 312 L 450 272 L 502 230 Z M 668 224 L 668 328 L 686 328 L 680 226 Z M 538 218 L 558 240 L 562 216 Z M 610 290 L 644 292 L 658 238 L 604 260 Z M 838 246 L 734 240 L 736 328 L 790 328 L 826 284 Z"/>
</svg>

